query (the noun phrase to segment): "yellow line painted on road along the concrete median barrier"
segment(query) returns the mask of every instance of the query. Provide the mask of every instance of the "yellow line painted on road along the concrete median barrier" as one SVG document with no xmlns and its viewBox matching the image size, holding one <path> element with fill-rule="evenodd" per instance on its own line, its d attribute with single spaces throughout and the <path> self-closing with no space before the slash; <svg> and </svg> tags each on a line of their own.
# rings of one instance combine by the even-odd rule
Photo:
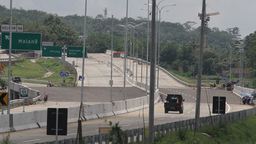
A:
<svg viewBox="0 0 256 144">
<path fill-rule="evenodd" d="M 159 92 L 159 93 L 162 93 L 162 92 Z M 162 93 L 164 95 L 166 95 L 165 93 Z M 167 96 L 167 95 L 166 95 Z M 160 110 L 164 107 L 160 107 L 160 108 L 156 108 L 154 111 L 157 111 L 157 110 Z M 149 111 L 147 112 L 144 112 L 143 114 L 147 114 Z M 138 116 L 138 114 L 134 114 L 134 115 L 130 115 L 130 116 L 122 116 L 122 117 L 117 117 L 117 118 L 109 118 L 107 119 L 108 121 L 110 120 L 120 120 L 120 119 L 124 119 L 124 118 L 127 118 L 127 117 L 132 117 L 132 116 Z M 88 121 L 84 121 L 84 122 L 88 122 Z M 90 123 L 82 123 L 82 125 L 88 125 L 88 124 L 95 124 L 95 123 L 101 123 L 101 122 L 105 122 L 105 120 L 98 120 L 96 122 L 90 122 Z M 77 126 L 77 124 L 72 124 L 72 125 L 68 125 L 68 127 L 74 127 L 74 126 Z M 43 131 L 46 131 L 46 128 L 45 129 L 41 129 L 41 130 L 32 130 L 32 131 L 29 131 L 29 132 L 19 132 L 19 133 L 14 133 L 14 134 L 10 134 L 10 136 L 14 136 L 14 135 L 19 135 L 19 134 L 24 134 L 24 133 L 32 133 L 32 132 L 43 132 Z M 8 134 L 8 133 L 6 133 Z"/>
</svg>

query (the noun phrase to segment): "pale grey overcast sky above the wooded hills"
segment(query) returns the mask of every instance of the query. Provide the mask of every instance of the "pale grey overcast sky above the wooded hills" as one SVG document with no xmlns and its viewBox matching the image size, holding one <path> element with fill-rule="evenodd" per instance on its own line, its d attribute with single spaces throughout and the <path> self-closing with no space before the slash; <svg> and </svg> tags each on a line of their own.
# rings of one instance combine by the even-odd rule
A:
<svg viewBox="0 0 256 144">
<path fill-rule="evenodd" d="M 87 0 L 87 16 L 95 17 L 103 14 L 103 9 L 108 8 L 108 17 L 111 17 L 113 10 L 114 17 L 120 19 L 126 16 L 126 0 Z M 158 4 L 160 0 L 157 0 Z M 147 9 L 144 5 L 148 0 L 129 0 L 128 17 L 147 17 Z M 151 0 L 150 0 L 151 3 Z M 1 5 L 10 8 L 10 0 L 1 0 Z M 177 4 L 177 6 L 167 6 L 162 12 L 161 19 L 170 22 L 185 23 L 195 21 L 200 24 L 198 12 L 202 12 L 202 0 L 166 0 L 159 4 L 159 8 L 164 5 Z M 218 27 L 220 30 L 226 28 L 240 28 L 240 33 L 244 36 L 253 33 L 256 28 L 256 0 L 206 0 L 207 13 L 220 12 L 220 15 L 211 16 L 209 27 Z M 25 10 L 37 9 L 60 16 L 78 14 L 84 15 L 85 0 L 12 0 L 12 7 L 22 7 Z"/>
</svg>

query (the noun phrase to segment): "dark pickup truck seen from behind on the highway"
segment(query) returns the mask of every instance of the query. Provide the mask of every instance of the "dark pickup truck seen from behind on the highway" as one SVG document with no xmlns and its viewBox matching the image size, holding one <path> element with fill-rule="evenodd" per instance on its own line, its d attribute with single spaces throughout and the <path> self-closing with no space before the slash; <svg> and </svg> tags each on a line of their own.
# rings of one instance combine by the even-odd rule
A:
<svg viewBox="0 0 256 144">
<path fill-rule="evenodd" d="M 164 103 L 164 113 L 169 111 L 179 111 L 180 114 L 183 114 L 183 101 L 181 94 L 167 94 L 167 98 Z"/>
</svg>

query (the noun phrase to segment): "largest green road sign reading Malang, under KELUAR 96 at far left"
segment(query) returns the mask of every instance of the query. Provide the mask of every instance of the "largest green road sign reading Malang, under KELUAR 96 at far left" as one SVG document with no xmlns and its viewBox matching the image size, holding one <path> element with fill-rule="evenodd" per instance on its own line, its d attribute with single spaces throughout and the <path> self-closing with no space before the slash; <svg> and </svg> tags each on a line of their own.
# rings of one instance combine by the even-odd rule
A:
<svg viewBox="0 0 256 144">
<path fill-rule="evenodd" d="M 10 33 L 2 32 L 1 49 L 9 49 Z M 12 50 L 41 50 L 40 33 L 12 33 Z"/>
</svg>

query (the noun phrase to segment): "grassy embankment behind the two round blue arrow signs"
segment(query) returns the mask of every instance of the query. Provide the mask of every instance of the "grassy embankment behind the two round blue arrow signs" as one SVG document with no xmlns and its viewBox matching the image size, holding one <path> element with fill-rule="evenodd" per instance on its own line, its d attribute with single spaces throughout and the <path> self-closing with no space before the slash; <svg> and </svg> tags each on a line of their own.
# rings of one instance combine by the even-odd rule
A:
<svg viewBox="0 0 256 144">
<path fill-rule="evenodd" d="M 5 74 L 1 77 L 8 77 L 8 65 L 9 62 L 2 62 L 6 67 L 4 68 Z M 47 68 L 53 72 L 52 75 L 43 78 L 43 76 L 48 72 L 44 68 Z M 62 71 L 62 64 L 54 59 L 38 59 L 35 62 L 27 60 L 23 57 L 20 57 L 17 61 L 12 61 L 12 76 L 20 76 L 24 79 L 36 79 L 36 80 L 45 80 L 51 82 L 62 82 L 62 77 L 59 75 Z M 66 66 L 66 72 L 70 75 L 65 78 L 66 83 L 75 82 L 75 72 Z"/>
</svg>

